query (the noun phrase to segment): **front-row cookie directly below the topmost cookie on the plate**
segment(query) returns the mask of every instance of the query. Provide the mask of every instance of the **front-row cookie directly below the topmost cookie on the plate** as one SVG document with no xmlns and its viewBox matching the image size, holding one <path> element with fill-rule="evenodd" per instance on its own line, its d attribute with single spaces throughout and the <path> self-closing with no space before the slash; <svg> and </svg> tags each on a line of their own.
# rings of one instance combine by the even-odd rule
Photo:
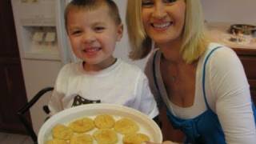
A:
<svg viewBox="0 0 256 144">
<path fill-rule="evenodd" d="M 118 142 L 118 134 L 114 130 L 100 129 L 94 132 L 98 144 L 114 144 Z"/>
</svg>

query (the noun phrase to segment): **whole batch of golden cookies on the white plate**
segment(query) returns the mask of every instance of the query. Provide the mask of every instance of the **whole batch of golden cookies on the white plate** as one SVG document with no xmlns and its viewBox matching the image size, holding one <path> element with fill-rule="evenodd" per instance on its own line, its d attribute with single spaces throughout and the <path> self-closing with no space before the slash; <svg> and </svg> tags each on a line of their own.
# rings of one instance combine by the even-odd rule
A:
<svg viewBox="0 0 256 144">
<path fill-rule="evenodd" d="M 146 134 L 139 133 L 140 127 L 130 118 L 117 121 L 112 115 L 99 114 L 93 118 L 79 118 L 67 125 L 57 124 L 51 130 L 52 138 L 46 144 L 141 144 L 150 141 Z M 90 133 L 94 130 L 93 133 Z M 122 139 L 118 139 L 122 134 Z"/>
</svg>

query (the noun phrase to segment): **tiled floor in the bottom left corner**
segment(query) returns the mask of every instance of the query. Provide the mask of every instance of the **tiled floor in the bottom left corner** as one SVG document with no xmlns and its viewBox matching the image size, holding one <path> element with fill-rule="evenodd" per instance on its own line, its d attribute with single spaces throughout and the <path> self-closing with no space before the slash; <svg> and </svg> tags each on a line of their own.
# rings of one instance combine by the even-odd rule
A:
<svg viewBox="0 0 256 144">
<path fill-rule="evenodd" d="M 0 144 L 34 144 L 29 136 L 0 132 Z"/>
</svg>

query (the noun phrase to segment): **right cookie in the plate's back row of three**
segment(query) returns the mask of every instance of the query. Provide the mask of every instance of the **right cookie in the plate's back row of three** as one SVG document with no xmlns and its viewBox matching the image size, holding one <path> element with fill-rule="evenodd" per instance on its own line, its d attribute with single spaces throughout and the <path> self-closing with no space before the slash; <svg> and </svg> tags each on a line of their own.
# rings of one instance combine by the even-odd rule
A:
<svg viewBox="0 0 256 144">
<path fill-rule="evenodd" d="M 115 122 L 114 130 L 120 134 L 134 134 L 139 130 L 139 127 L 132 119 L 121 118 Z"/>
</svg>

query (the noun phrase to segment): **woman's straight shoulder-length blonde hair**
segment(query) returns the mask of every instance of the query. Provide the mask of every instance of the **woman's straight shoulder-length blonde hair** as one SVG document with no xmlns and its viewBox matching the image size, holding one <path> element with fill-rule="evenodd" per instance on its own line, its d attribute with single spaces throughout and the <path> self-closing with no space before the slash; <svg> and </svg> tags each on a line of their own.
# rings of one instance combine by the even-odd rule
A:
<svg viewBox="0 0 256 144">
<path fill-rule="evenodd" d="M 200 0 L 184 0 L 184 2 L 186 2 L 186 19 L 180 53 L 186 63 L 191 63 L 205 52 L 209 41 L 205 33 Z M 130 58 L 145 58 L 150 53 L 152 40 L 142 24 L 142 0 L 128 0 L 126 23 L 131 44 Z"/>
</svg>

